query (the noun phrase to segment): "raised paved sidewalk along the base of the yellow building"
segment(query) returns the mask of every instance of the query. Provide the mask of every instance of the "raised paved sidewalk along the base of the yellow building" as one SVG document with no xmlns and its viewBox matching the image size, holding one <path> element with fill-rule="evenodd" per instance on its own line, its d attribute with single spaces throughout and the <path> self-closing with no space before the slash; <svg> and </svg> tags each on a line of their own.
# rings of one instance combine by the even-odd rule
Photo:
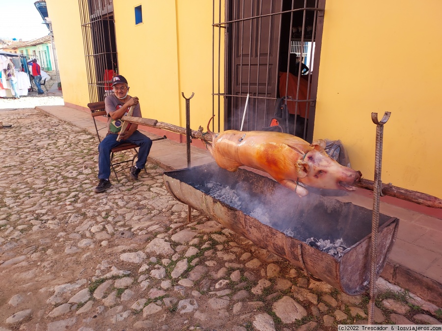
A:
<svg viewBox="0 0 442 331">
<path fill-rule="evenodd" d="M 67 106 L 38 106 L 36 109 L 96 135 L 89 112 Z M 102 124 L 105 127 L 105 123 Z M 104 136 L 105 129 L 101 131 Z M 149 132 L 143 133 L 151 138 L 159 137 Z M 186 144 L 169 139 L 156 141 L 149 161 L 166 170 L 186 168 Z M 191 166 L 197 166 L 214 160 L 207 150 L 191 146 L 191 161 Z M 358 191 L 337 199 L 371 209 L 372 193 L 361 189 Z M 441 307 L 442 210 L 389 198 L 381 199 L 381 213 L 400 219 L 397 239 L 382 277 Z"/>
</svg>

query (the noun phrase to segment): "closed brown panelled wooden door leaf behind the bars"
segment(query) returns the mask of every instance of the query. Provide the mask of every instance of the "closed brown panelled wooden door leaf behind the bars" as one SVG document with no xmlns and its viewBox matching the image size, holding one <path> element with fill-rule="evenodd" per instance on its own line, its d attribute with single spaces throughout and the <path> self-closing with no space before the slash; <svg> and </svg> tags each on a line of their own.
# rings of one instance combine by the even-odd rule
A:
<svg viewBox="0 0 442 331">
<path fill-rule="evenodd" d="M 225 129 L 259 130 L 273 116 L 282 0 L 232 0 L 227 25 Z M 267 15 L 267 16 L 266 16 Z M 232 22 L 233 21 L 233 22 Z"/>
</svg>

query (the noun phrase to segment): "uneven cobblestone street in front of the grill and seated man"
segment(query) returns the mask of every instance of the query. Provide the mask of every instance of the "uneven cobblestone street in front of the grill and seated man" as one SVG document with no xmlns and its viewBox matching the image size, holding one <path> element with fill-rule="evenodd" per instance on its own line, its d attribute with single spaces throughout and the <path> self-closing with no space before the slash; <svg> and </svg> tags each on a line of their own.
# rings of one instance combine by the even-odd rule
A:
<svg viewBox="0 0 442 331">
<path fill-rule="evenodd" d="M 368 295 L 311 280 L 197 211 L 188 224 L 162 168 L 148 163 L 138 181 L 112 174 L 96 194 L 96 136 L 32 108 L 0 115 L 12 125 L 0 129 L 0 331 L 367 323 Z M 441 324 L 440 307 L 383 279 L 378 287 L 376 323 Z"/>
</svg>

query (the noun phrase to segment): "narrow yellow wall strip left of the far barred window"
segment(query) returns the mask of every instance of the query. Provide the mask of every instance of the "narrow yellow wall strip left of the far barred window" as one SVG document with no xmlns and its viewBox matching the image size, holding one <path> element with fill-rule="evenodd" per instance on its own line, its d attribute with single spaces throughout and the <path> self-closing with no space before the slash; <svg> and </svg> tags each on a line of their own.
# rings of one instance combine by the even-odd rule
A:
<svg viewBox="0 0 442 331">
<path fill-rule="evenodd" d="M 46 0 L 46 3 L 54 30 L 64 102 L 86 107 L 89 92 L 78 1 Z"/>
</svg>

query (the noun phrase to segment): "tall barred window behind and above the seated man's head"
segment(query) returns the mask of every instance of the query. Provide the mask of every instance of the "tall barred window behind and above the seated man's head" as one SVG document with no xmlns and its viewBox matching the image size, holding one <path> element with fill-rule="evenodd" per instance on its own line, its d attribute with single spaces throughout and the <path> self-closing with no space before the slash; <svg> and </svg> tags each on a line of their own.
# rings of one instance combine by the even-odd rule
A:
<svg viewBox="0 0 442 331">
<path fill-rule="evenodd" d="M 89 101 L 104 101 L 111 94 L 112 76 L 118 74 L 112 0 L 78 0 L 83 33 Z"/>
</svg>

